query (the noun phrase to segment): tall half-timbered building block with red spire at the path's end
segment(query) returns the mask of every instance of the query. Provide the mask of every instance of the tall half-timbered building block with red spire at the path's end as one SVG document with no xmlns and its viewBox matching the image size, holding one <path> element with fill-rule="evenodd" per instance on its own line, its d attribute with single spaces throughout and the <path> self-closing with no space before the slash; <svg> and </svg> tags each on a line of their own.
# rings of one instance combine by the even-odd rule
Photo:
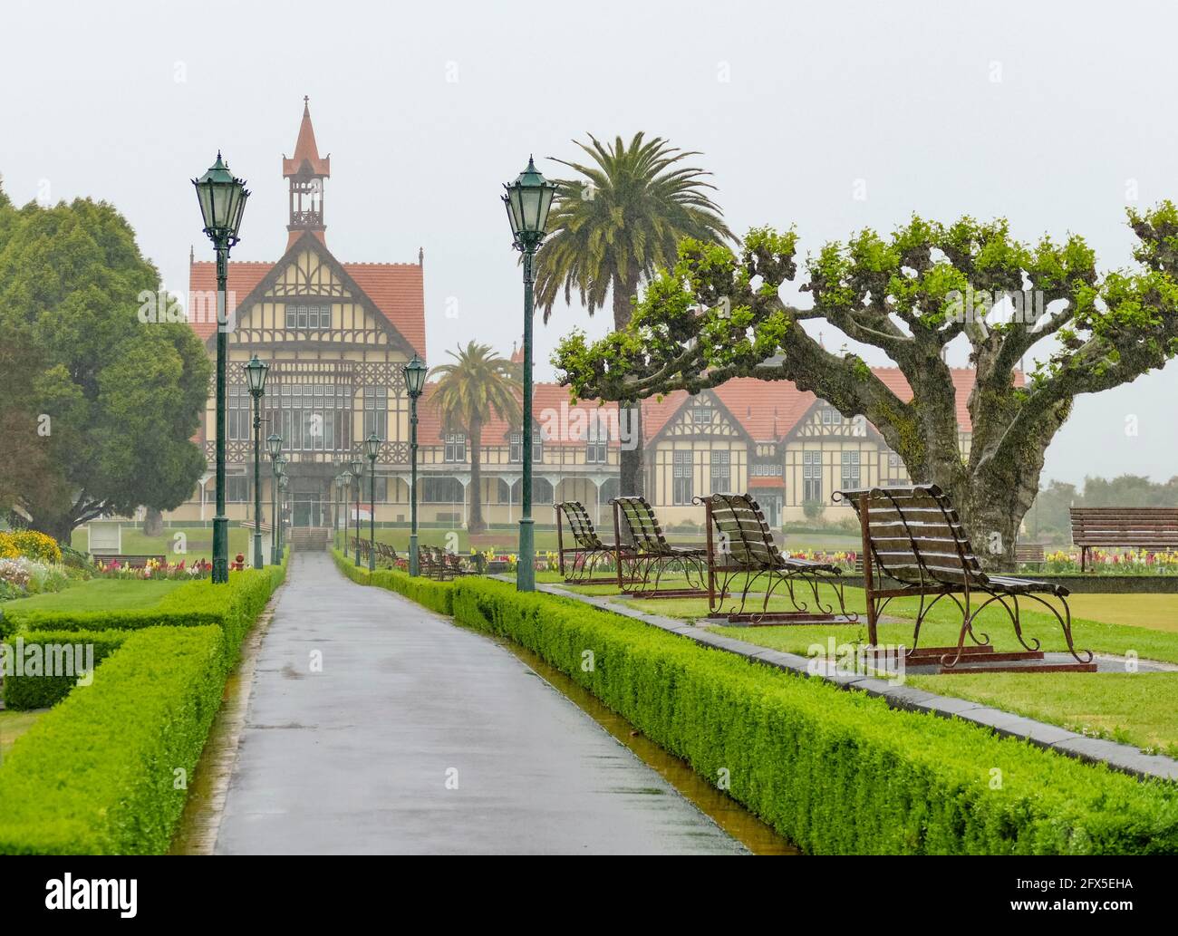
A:
<svg viewBox="0 0 1178 936">
<path fill-rule="evenodd" d="M 270 263 L 230 263 L 227 505 L 231 520 L 253 513 L 252 399 L 243 365 L 257 354 L 270 365 L 262 404 L 262 434 L 277 432 L 290 476 L 287 519 L 297 526 L 332 522 L 333 478 L 363 440 L 380 439 L 377 471 L 388 477 L 409 465 L 409 406 L 402 365 L 425 357 L 422 255 L 416 264 L 342 263 L 325 238 L 324 182 L 330 158 L 320 158 L 304 105 L 294 154 L 283 158 L 290 191 L 286 250 Z M 253 224 L 260 224 L 254 218 Z M 188 319 L 216 354 L 216 265 L 190 258 Z M 216 396 L 210 386 L 199 442 L 210 471 L 171 520 L 210 520 Z M 368 463 L 365 462 L 365 470 Z M 263 467 L 263 520 L 269 523 L 270 464 Z M 391 504 L 408 504 L 408 484 L 396 483 Z M 397 511 L 398 515 L 404 510 Z M 383 519 L 379 517 L 378 519 Z M 389 517 L 392 519 L 392 517 Z"/>
</svg>

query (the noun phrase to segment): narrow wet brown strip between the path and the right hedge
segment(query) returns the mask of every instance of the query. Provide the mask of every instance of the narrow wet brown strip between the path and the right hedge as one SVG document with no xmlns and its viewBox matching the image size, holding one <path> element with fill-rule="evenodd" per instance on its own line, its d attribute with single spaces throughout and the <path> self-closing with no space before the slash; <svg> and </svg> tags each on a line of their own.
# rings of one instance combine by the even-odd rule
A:
<svg viewBox="0 0 1178 936">
<path fill-rule="evenodd" d="M 577 685 L 563 672 L 518 644 L 502 639 L 496 639 L 496 643 L 535 670 L 544 682 L 604 728 L 642 763 L 659 771 L 663 779 L 687 801 L 754 855 L 801 854 L 769 825 L 691 770 L 686 761 L 668 754 L 643 735 L 636 733 L 634 725 L 603 705 L 596 696 Z"/>
</svg>

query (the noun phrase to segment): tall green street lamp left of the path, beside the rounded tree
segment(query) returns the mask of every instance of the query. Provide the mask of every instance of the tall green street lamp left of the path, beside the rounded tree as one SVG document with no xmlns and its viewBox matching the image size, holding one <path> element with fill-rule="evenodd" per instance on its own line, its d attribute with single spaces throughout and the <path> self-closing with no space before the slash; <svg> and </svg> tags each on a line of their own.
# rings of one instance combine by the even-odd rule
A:
<svg viewBox="0 0 1178 936">
<path fill-rule="evenodd" d="M 241 215 L 250 193 L 245 181 L 233 177 L 217 153 L 217 161 L 199 179 L 193 179 L 205 234 L 217 251 L 217 515 L 213 517 L 214 583 L 229 582 L 229 517 L 225 516 L 225 361 L 229 317 L 225 290 L 229 279 L 229 251 L 238 243 Z"/>
</svg>

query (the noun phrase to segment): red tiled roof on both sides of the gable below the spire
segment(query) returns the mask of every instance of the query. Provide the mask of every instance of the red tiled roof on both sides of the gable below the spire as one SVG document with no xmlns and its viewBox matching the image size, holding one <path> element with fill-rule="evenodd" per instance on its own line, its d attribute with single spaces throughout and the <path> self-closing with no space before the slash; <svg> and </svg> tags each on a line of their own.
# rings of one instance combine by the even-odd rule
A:
<svg viewBox="0 0 1178 936">
<path fill-rule="evenodd" d="M 419 264 L 343 264 L 356 285 L 364 291 L 385 319 L 425 357 L 425 294 Z M 230 263 L 226 296 L 227 313 L 274 268 L 271 263 Z M 217 264 L 194 261 L 188 268 L 188 324 L 200 337 L 217 331 Z M 193 303 L 193 297 L 211 297 L 209 301 Z"/>
</svg>

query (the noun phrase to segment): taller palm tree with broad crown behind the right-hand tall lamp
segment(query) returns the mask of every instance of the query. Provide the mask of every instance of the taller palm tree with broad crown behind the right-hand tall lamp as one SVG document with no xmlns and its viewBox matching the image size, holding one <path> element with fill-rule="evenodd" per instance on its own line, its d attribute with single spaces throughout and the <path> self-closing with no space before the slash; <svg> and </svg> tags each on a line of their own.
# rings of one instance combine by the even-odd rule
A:
<svg viewBox="0 0 1178 936">
<path fill-rule="evenodd" d="M 536 303 L 544 321 L 563 292 L 577 292 L 593 316 L 611 297 L 614 328 L 624 328 L 633 314 L 633 297 L 660 267 L 674 266 L 679 243 L 686 237 L 723 243 L 733 239 L 720 207 L 703 180 L 710 173 L 683 166 L 700 155 L 671 146 L 662 137 L 647 141 L 634 134 L 629 146 L 617 137 L 604 146 L 590 134 L 574 142 L 593 162 L 555 161 L 575 170 L 580 179 L 558 179 L 548 237 L 536 254 Z M 623 494 L 642 493 L 642 423 L 638 407 L 622 406 L 627 431 L 637 444 L 622 451 L 620 486 Z"/>
</svg>

